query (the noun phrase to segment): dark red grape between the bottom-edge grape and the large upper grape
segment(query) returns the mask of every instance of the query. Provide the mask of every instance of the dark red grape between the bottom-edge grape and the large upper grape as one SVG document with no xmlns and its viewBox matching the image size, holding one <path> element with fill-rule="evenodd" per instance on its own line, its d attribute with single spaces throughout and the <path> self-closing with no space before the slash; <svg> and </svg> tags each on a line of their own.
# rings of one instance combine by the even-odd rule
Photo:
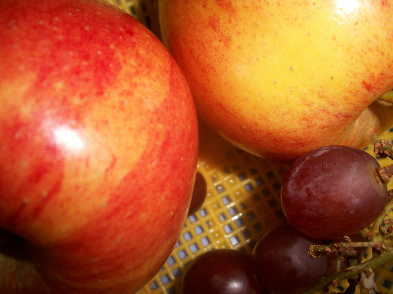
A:
<svg viewBox="0 0 393 294">
<path fill-rule="evenodd" d="M 305 236 L 291 225 L 265 233 L 254 248 L 254 270 L 262 287 L 271 294 L 298 294 L 314 287 L 323 277 L 327 257 L 312 258 L 310 245 L 321 240 Z"/>
</svg>

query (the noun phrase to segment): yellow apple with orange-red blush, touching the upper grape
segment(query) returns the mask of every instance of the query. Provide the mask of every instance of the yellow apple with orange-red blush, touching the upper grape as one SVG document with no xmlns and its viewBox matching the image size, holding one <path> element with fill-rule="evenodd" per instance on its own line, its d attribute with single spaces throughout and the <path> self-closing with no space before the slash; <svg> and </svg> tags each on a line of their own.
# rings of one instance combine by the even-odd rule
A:
<svg viewBox="0 0 393 294">
<path fill-rule="evenodd" d="M 393 124 L 391 1 L 159 0 L 162 41 L 199 116 L 238 147 L 293 162 L 363 148 Z"/>
</svg>

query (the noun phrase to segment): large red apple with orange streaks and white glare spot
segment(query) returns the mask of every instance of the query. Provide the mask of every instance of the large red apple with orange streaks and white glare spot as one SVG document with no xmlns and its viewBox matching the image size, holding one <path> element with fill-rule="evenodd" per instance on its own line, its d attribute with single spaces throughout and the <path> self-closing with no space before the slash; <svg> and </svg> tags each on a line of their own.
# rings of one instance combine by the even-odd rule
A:
<svg viewBox="0 0 393 294">
<path fill-rule="evenodd" d="M 198 124 L 182 72 L 101 1 L 1 1 L 0 39 L 0 292 L 136 292 L 191 201 Z"/>
</svg>

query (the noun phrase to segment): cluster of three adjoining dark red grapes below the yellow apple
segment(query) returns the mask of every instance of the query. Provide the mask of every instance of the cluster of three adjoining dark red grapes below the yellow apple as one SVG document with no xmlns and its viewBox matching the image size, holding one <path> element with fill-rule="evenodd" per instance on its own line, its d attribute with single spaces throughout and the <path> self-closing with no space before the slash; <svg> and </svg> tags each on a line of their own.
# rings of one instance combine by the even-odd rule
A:
<svg viewBox="0 0 393 294">
<path fill-rule="evenodd" d="M 182 293 L 300 294 L 324 275 L 349 267 L 337 261 L 361 257 L 364 249 L 353 256 L 345 250 L 312 248 L 328 248 L 344 237 L 366 241 L 358 232 L 384 211 L 388 199 L 378 167 L 367 152 L 341 145 L 301 156 L 286 172 L 281 188 L 288 224 L 266 232 L 252 256 L 234 249 L 198 256 L 184 273 Z"/>
</svg>

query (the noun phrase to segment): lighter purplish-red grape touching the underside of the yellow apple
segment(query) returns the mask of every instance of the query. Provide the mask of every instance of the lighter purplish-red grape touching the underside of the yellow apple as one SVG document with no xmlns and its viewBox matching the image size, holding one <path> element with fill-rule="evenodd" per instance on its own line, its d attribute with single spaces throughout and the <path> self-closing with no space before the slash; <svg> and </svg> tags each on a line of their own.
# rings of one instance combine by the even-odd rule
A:
<svg viewBox="0 0 393 294">
<path fill-rule="evenodd" d="M 372 223 L 387 202 L 377 160 L 353 147 L 333 145 L 301 156 L 286 172 L 281 203 L 287 220 L 320 239 L 341 238 Z"/>
</svg>

